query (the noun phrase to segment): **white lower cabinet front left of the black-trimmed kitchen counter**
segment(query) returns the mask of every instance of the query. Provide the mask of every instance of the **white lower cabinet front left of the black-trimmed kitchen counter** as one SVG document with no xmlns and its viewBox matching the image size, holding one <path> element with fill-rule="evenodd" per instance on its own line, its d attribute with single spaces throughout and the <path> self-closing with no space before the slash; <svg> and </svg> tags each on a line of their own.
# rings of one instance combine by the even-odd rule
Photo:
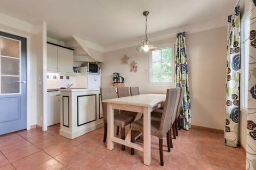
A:
<svg viewBox="0 0 256 170">
<path fill-rule="evenodd" d="M 47 126 L 60 123 L 60 92 L 47 92 Z"/>
</svg>

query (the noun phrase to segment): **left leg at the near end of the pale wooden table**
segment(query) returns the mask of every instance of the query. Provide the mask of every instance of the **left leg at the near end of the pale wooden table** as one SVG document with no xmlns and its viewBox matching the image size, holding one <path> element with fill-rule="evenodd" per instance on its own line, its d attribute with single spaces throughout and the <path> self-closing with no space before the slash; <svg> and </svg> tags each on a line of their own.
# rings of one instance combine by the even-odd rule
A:
<svg viewBox="0 0 256 170">
<path fill-rule="evenodd" d="M 108 103 L 108 133 L 107 146 L 109 150 L 114 149 L 114 142 L 111 139 L 114 137 L 114 110 L 111 103 Z"/>
</svg>

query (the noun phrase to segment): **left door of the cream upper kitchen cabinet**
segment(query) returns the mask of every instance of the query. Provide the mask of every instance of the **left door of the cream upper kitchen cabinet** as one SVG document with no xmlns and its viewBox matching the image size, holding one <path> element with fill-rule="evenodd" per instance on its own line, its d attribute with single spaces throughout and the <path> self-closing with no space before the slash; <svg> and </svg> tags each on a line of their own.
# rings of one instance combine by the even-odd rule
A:
<svg viewBox="0 0 256 170">
<path fill-rule="evenodd" d="M 47 70 L 58 71 L 58 47 L 47 44 Z"/>
</svg>

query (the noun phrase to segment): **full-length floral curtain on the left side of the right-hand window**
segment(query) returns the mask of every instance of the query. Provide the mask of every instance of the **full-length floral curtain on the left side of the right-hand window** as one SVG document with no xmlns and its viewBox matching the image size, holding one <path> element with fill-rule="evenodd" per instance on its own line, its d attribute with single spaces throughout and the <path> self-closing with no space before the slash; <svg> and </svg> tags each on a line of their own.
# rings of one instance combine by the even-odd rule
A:
<svg viewBox="0 0 256 170">
<path fill-rule="evenodd" d="M 225 144 L 237 147 L 239 130 L 240 6 L 228 16 Z"/>
</svg>

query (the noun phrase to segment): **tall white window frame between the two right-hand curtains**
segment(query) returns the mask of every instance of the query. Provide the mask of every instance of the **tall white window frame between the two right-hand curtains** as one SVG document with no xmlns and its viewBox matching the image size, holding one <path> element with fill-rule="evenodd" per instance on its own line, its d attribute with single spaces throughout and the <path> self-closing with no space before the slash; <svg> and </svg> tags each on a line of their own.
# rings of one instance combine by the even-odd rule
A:
<svg viewBox="0 0 256 170">
<path fill-rule="evenodd" d="M 249 49 L 250 49 L 250 14 L 241 22 L 241 81 L 240 81 L 240 108 L 247 113 L 248 102 L 248 76 L 249 76 Z M 246 30 L 249 29 L 249 32 Z M 246 46 L 247 45 L 247 46 Z"/>
</svg>

